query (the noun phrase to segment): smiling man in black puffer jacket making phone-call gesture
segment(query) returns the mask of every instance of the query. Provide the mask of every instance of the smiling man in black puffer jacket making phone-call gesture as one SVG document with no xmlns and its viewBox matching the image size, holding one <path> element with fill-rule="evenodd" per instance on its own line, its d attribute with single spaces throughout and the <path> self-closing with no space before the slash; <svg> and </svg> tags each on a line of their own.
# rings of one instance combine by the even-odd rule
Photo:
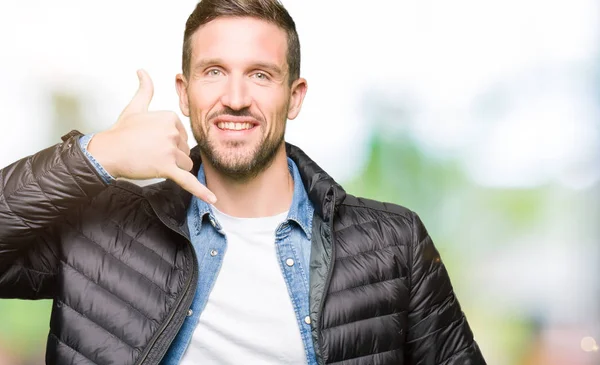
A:
<svg viewBox="0 0 600 365">
<path fill-rule="evenodd" d="M 182 69 L 192 151 L 140 71 L 112 128 L 0 171 L 0 296 L 53 299 L 47 363 L 485 364 L 417 215 L 284 142 L 307 83 L 281 4 L 203 0 Z"/>
</svg>

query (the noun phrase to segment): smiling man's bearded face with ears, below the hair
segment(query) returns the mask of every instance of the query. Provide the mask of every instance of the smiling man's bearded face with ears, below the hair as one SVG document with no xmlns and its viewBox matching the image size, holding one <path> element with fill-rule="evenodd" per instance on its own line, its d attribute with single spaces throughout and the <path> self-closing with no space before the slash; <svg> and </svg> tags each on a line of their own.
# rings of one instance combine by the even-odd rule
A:
<svg viewBox="0 0 600 365">
<path fill-rule="evenodd" d="M 191 38 L 190 73 L 177 76 L 203 161 L 237 180 L 285 153 L 286 120 L 300 111 L 306 81 L 289 84 L 287 35 L 254 18 L 217 18 Z"/>
</svg>

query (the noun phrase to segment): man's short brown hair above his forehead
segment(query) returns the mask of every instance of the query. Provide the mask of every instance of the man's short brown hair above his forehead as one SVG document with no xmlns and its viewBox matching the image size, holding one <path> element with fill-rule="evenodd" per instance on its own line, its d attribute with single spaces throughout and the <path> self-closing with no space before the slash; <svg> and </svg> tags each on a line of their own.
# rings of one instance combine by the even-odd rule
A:
<svg viewBox="0 0 600 365">
<path fill-rule="evenodd" d="M 192 35 L 200 26 L 219 17 L 252 17 L 273 23 L 287 33 L 290 84 L 300 77 L 300 40 L 296 24 L 278 0 L 201 0 L 185 23 L 182 69 L 190 73 Z"/>
</svg>

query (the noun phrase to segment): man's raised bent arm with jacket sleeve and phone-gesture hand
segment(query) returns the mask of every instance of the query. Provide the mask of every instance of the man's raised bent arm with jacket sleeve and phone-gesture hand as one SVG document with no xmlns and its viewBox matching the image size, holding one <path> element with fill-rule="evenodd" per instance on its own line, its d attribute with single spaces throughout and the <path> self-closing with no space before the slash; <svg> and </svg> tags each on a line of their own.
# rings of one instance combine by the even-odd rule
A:
<svg viewBox="0 0 600 365">
<path fill-rule="evenodd" d="M 207 202 L 216 198 L 189 171 L 187 132 L 173 112 L 149 112 L 154 87 L 145 71 L 117 122 L 104 132 L 64 143 L 0 170 L 0 298 L 51 295 L 57 222 L 89 202 L 113 177 L 165 177 Z M 93 157 L 92 157 L 93 156 Z"/>
</svg>

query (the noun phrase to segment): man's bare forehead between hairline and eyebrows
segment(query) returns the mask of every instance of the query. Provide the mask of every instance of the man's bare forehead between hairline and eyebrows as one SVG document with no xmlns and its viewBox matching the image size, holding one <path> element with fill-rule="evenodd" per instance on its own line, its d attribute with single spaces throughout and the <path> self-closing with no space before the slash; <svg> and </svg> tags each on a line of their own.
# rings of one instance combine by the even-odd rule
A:
<svg viewBox="0 0 600 365">
<path fill-rule="evenodd" d="M 277 25 L 251 17 L 220 17 L 202 25 L 191 39 L 192 67 L 202 59 L 287 64 L 287 35 Z"/>
</svg>

